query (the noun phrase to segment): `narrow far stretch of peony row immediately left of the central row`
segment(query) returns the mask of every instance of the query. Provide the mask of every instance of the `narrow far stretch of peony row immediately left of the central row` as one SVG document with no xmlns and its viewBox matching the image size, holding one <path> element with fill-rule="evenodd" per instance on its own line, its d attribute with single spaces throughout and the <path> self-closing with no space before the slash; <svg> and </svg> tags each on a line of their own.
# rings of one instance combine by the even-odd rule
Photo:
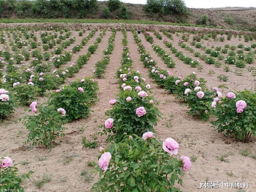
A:
<svg viewBox="0 0 256 192">
<path fill-rule="evenodd" d="M 112 34 L 110 35 L 108 39 L 108 48 L 103 51 L 104 57 L 100 61 L 97 61 L 95 64 L 95 69 L 93 70 L 95 76 L 97 78 L 102 78 L 106 69 L 106 66 L 109 64 L 110 60 L 110 54 L 112 53 L 114 49 L 114 41 L 115 41 L 115 35 L 116 35 L 116 29 L 112 28 Z"/>
</svg>

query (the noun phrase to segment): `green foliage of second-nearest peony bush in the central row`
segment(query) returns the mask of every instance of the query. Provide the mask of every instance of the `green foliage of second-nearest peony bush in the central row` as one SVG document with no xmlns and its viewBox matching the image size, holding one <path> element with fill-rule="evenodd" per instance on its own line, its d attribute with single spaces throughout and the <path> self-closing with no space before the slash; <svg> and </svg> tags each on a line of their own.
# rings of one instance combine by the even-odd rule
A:
<svg viewBox="0 0 256 192">
<path fill-rule="evenodd" d="M 130 96 L 132 100 L 126 101 L 126 98 Z M 115 105 L 112 105 L 112 109 L 106 111 L 106 116 L 113 118 L 113 127 L 106 129 L 104 126 L 104 133 L 113 133 L 108 135 L 108 141 L 121 141 L 124 137 L 124 133 L 131 135 L 136 134 L 142 136 L 147 131 L 154 132 L 154 126 L 160 117 L 160 111 L 151 104 L 151 97 L 139 97 L 138 93 L 134 90 L 126 90 L 119 94 L 119 99 Z M 138 107 L 143 106 L 146 110 L 146 114 L 138 117 L 135 113 Z"/>
</svg>

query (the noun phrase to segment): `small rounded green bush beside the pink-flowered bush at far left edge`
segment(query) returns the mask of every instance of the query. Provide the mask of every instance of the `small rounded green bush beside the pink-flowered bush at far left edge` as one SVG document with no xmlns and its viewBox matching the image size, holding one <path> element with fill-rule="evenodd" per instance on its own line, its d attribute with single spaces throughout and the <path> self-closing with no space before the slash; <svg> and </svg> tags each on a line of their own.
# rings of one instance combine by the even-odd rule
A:
<svg viewBox="0 0 256 192">
<path fill-rule="evenodd" d="M 15 87 L 17 101 L 22 105 L 30 105 L 39 96 L 39 88 L 35 85 L 21 84 Z"/>
</svg>

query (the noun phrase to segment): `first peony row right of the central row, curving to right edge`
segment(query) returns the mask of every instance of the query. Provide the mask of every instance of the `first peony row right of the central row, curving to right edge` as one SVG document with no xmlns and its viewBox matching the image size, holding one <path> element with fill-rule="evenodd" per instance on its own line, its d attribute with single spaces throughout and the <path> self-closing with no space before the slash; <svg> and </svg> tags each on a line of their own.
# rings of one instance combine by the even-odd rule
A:
<svg viewBox="0 0 256 192">
<path fill-rule="evenodd" d="M 193 116 L 199 116 L 203 120 L 208 120 L 213 115 L 217 120 L 212 124 L 217 126 L 217 131 L 224 131 L 227 136 L 234 135 L 235 138 L 243 142 L 248 142 L 251 135 L 256 136 L 256 113 L 252 109 L 256 107 L 256 93 L 249 90 L 240 92 L 229 92 L 226 98 L 222 98 L 222 93 L 218 88 L 208 90 L 206 81 L 197 78 L 196 74 L 190 74 L 186 78 L 172 76 L 167 70 L 156 67 L 156 62 L 148 64 L 148 52 L 133 30 L 135 42 L 138 44 L 138 50 L 141 54 L 141 61 L 145 67 L 149 68 L 150 78 L 165 88 L 169 93 L 174 93 L 177 100 L 184 101 L 184 105 L 189 107 L 189 113 Z M 230 98 L 229 95 L 236 95 L 236 98 Z M 240 98 L 237 100 L 237 98 Z M 250 103 L 250 107 L 242 107 L 236 103 Z M 218 105 L 219 104 L 219 105 Z M 216 107 L 216 105 L 218 107 Z M 232 110 L 231 110 L 232 109 Z"/>
</svg>

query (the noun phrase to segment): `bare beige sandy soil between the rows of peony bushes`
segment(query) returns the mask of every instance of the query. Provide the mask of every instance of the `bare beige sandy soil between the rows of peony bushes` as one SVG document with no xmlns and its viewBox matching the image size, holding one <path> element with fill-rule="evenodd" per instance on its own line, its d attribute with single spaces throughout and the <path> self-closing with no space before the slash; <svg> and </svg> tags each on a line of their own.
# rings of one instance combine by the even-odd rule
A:
<svg viewBox="0 0 256 192">
<path fill-rule="evenodd" d="M 93 75 L 92 69 L 95 65 L 95 61 L 102 58 L 102 51 L 108 46 L 110 33 L 111 32 L 108 31 L 103 37 L 96 53 L 92 55 L 88 63 L 76 74 L 75 78 L 68 79 L 68 81 Z M 96 37 L 98 37 L 97 34 L 95 34 L 93 38 Z M 157 65 L 167 69 L 161 57 L 158 57 L 156 52 L 152 49 L 151 44 L 145 40 L 142 34 L 139 35 L 139 37 L 142 39 L 143 44 L 145 44 L 146 49 L 153 56 L 154 60 L 158 63 Z M 171 41 L 179 50 L 182 49 L 177 44 L 179 38 L 176 37 L 176 35 L 173 37 L 173 41 L 169 39 L 168 41 Z M 167 37 L 165 37 L 165 39 L 167 39 Z M 163 40 L 158 41 L 158 39 L 154 38 L 154 41 L 166 51 L 170 52 L 162 43 Z M 225 42 L 225 44 L 228 42 Z M 80 53 L 84 54 L 86 48 L 91 43 L 93 43 L 93 40 L 90 40 L 90 43 L 88 42 L 87 46 L 85 46 Z M 130 49 L 131 58 L 134 59 L 134 70 L 139 70 L 146 78 L 147 82 L 151 84 L 153 90 L 152 95 L 158 101 L 156 102 L 158 103 L 157 106 L 161 113 L 163 113 L 163 119 L 160 119 L 158 126 L 155 127 L 156 133 L 161 140 L 167 137 L 172 137 L 177 140 L 180 144 L 180 155 L 184 154 L 189 157 L 195 155 L 197 157 L 197 160 L 192 162 L 191 170 L 186 172 L 182 178 L 182 191 L 213 191 L 210 189 L 200 189 L 201 181 L 248 182 L 250 187 L 246 189 L 246 191 L 256 191 L 256 161 L 251 157 L 244 157 L 239 153 L 241 150 L 248 148 L 251 150 L 251 154 L 255 154 L 255 141 L 253 140 L 247 144 L 236 142 L 232 138 L 226 138 L 222 133 L 214 131 L 211 127 L 210 120 L 203 122 L 197 118 L 192 118 L 186 113 L 188 111 L 187 107 L 180 106 L 180 103 L 174 100 L 173 95 L 165 93 L 163 89 L 158 88 L 154 81 L 149 78 L 148 70 L 144 68 L 140 61 L 137 44 L 134 42 L 132 32 L 128 32 L 128 47 Z M 200 52 L 200 50 L 197 51 Z M 183 52 L 185 55 L 193 57 L 190 52 L 186 52 L 186 50 L 183 50 Z M 96 127 L 104 122 L 106 118 L 104 112 L 110 108 L 108 101 L 116 97 L 119 88 L 115 73 L 120 66 L 121 54 L 122 33 L 118 31 L 115 37 L 115 48 L 111 54 L 110 63 L 105 72 L 107 78 L 96 79 L 99 85 L 99 101 L 91 107 L 92 112 L 88 118 L 65 125 L 65 127 L 68 128 L 65 131 L 66 136 L 59 138 L 57 141 L 58 145 L 54 148 L 48 150 L 23 144 L 28 131 L 19 122 L 19 118 L 29 114 L 26 112 L 28 108 L 19 107 L 13 115 L 9 116 L 7 120 L 0 124 L 1 133 L 7 133 L 0 135 L 0 154 L 14 159 L 20 172 L 25 173 L 28 170 L 35 172 L 31 179 L 24 183 L 25 188 L 36 189 L 34 182 L 42 178 L 43 174 L 47 173 L 52 176 L 52 181 L 43 185 L 39 190 L 40 192 L 91 191 L 91 186 L 97 181 L 98 174 L 94 173 L 93 168 L 87 165 L 87 161 L 97 162 L 97 157 L 100 153 L 98 152 L 98 148 L 83 148 L 82 136 L 85 136 L 88 140 L 93 140 L 92 136 L 98 131 Z M 196 68 L 192 68 L 184 64 L 183 61 L 178 60 L 173 54 L 172 57 L 176 62 L 176 67 L 168 69 L 171 71 L 171 74 L 185 77 L 187 74 L 195 71 L 199 77 L 203 77 L 208 81 L 209 87 L 223 84 L 223 82 L 217 81 L 217 75 L 225 74 L 222 68 L 215 68 L 201 61 L 201 65 L 204 69 L 202 72 L 199 72 Z M 72 61 L 75 61 L 73 59 L 76 59 L 74 55 Z M 193 57 L 193 59 L 196 58 Z M 209 76 L 207 73 L 210 69 L 215 70 L 216 74 Z M 246 76 L 246 81 L 245 76 L 239 77 L 232 72 L 227 75 L 230 79 L 225 83 L 230 90 L 234 88 L 239 90 L 250 88 L 254 83 L 254 79 L 251 76 Z M 43 101 L 44 99 L 41 102 Z M 96 141 L 98 142 L 98 146 L 106 146 L 105 137 L 97 135 Z M 218 158 L 220 155 L 224 154 L 228 154 L 228 157 L 225 158 L 227 160 L 226 162 L 220 161 Z M 39 161 L 39 158 L 42 157 L 45 157 L 45 160 Z M 30 163 L 28 165 L 22 165 L 21 162 L 26 160 Z M 86 178 L 80 176 L 84 169 L 88 170 L 88 175 L 91 176 L 91 178 L 88 179 L 89 181 L 85 181 Z M 219 188 L 214 191 L 237 192 L 237 190 L 238 189 Z"/>
</svg>

